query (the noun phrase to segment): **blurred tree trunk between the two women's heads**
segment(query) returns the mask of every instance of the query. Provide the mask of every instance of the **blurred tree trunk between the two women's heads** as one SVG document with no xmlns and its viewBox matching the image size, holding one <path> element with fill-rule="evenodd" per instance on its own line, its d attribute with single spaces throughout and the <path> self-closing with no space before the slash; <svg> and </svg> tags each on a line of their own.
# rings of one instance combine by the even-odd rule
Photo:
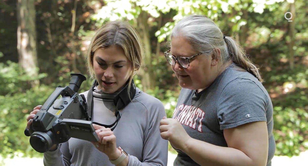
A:
<svg viewBox="0 0 308 166">
<path fill-rule="evenodd" d="M 148 25 L 148 13 L 141 11 L 138 19 L 139 34 L 144 45 L 145 67 L 142 75 L 143 91 L 154 89 L 155 77 L 152 75 L 152 50 Z"/>
</svg>

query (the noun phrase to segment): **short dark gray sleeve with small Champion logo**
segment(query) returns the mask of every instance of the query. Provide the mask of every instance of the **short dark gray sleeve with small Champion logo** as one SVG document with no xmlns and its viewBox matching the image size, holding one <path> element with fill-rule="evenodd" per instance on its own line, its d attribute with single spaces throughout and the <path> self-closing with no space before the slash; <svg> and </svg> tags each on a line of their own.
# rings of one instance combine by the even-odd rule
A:
<svg viewBox="0 0 308 166">
<path fill-rule="evenodd" d="M 269 99 L 264 91 L 250 79 L 237 78 L 228 83 L 217 100 L 217 118 L 220 129 L 266 121 Z"/>
</svg>

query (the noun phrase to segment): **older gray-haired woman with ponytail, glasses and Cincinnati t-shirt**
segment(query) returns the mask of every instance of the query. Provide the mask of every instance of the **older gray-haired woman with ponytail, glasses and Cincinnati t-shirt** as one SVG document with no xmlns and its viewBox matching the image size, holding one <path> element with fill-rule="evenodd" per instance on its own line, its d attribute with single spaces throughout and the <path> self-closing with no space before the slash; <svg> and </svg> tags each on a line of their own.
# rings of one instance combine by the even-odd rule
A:
<svg viewBox="0 0 308 166">
<path fill-rule="evenodd" d="M 178 152 L 176 166 L 270 166 L 273 105 L 258 68 L 210 18 L 180 20 L 165 52 L 182 87 L 160 135 Z"/>
</svg>

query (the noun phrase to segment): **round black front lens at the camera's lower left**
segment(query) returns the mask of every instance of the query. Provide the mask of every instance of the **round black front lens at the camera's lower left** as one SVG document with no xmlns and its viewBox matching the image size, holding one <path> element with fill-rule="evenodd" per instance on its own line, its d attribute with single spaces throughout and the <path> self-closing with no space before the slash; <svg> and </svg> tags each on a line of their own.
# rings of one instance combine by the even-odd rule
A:
<svg viewBox="0 0 308 166">
<path fill-rule="evenodd" d="M 51 148 L 52 146 L 51 137 L 47 133 L 34 132 L 30 136 L 30 144 L 35 151 L 44 153 Z M 52 132 L 49 134 L 52 134 Z"/>
</svg>

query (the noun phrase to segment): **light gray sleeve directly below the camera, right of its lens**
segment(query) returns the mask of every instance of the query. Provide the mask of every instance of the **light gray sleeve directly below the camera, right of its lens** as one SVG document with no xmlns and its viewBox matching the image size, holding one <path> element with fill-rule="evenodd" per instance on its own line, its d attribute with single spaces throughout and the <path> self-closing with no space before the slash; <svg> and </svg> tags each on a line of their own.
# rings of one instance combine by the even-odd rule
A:
<svg viewBox="0 0 308 166">
<path fill-rule="evenodd" d="M 59 147 L 55 151 L 45 152 L 43 157 L 44 166 L 70 166 L 71 165 L 71 153 L 68 148 L 68 141 L 59 144 Z"/>
</svg>

